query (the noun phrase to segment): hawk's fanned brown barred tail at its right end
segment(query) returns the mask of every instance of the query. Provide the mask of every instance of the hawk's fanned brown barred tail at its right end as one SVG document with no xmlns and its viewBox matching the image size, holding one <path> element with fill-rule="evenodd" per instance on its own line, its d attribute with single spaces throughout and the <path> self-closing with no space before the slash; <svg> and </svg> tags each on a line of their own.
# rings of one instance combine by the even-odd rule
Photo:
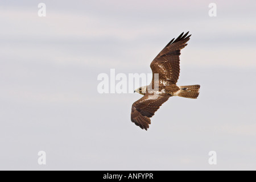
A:
<svg viewBox="0 0 256 182">
<path fill-rule="evenodd" d="M 185 98 L 197 98 L 199 96 L 200 85 L 187 85 L 180 86 L 180 90 L 176 93 L 176 96 Z"/>
</svg>

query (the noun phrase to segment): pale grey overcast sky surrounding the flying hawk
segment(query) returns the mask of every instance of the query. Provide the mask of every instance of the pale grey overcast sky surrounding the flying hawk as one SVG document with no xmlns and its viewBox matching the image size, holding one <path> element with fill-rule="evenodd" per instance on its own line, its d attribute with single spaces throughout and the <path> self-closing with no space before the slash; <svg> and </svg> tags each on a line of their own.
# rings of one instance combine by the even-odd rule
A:
<svg viewBox="0 0 256 182">
<path fill-rule="evenodd" d="M 256 170 L 255 9 L 254 0 L 1 1 L 0 169 Z M 130 121 L 141 95 L 100 94 L 97 76 L 151 73 L 187 31 L 177 85 L 200 84 L 199 98 L 170 98 L 141 130 Z"/>
</svg>

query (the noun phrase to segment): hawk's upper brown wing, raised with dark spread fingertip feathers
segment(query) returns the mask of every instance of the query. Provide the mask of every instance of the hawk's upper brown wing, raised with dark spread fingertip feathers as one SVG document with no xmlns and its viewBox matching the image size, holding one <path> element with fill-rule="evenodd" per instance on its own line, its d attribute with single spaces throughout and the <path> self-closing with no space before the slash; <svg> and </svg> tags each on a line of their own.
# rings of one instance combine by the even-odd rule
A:
<svg viewBox="0 0 256 182">
<path fill-rule="evenodd" d="M 150 64 L 153 73 L 158 73 L 159 80 L 168 82 L 168 84 L 176 84 L 180 75 L 180 50 L 187 46 L 187 42 L 191 35 L 180 34 L 177 39 L 172 39 L 166 47 L 155 57 Z M 188 35 L 188 36 L 187 36 Z"/>
</svg>

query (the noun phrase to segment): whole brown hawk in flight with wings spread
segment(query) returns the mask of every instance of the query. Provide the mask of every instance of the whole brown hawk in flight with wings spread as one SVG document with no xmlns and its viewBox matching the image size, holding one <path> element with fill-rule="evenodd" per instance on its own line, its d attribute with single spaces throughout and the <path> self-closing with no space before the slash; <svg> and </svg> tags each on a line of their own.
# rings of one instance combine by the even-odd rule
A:
<svg viewBox="0 0 256 182">
<path fill-rule="evenodd" d="M 150 118 L 168 98 L 172 96 L 197 98 L 199 96 L 200 85 L 176 85 L 180 73 L 180 50 L 187 46 L 191 36 L 188 32 L 183 34 L 184 32 L 176 39 L 172 39 L 150 64 L 153 73 L 150 85 L 134 90 L 143 97 L 134 102 L 131 107 L 131 121 L 141 129 L 149 128 Z M 155 78 L 155 75 L 158 78 Z M 155 89 L 155 84 L 158 85 L 158 89 Z"/>
</svg>

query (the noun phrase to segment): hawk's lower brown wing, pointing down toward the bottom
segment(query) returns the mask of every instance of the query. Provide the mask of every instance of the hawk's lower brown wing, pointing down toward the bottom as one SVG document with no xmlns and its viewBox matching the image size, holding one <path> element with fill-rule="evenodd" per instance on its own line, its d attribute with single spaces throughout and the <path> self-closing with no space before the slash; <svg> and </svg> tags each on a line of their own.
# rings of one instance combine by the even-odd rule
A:
<svg viewBox="0 0 256 182">
<path fill-rule="evenodd" d="M 168 98 L 169 96 L 146 94 L 131 106 L 131 121 L 147 130 L 151 123 L 150 118 Z"/>
</svg>

